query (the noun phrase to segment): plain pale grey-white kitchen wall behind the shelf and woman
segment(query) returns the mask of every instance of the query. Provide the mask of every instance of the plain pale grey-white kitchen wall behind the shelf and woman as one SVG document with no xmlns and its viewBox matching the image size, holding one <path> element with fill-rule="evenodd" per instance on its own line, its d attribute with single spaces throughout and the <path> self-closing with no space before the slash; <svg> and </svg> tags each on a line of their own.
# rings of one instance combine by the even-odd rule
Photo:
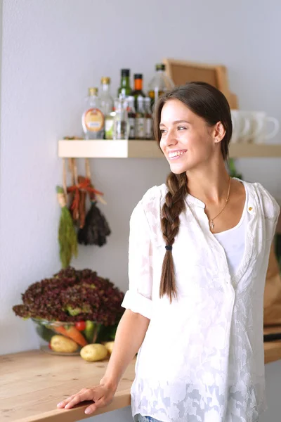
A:
<svg viewBox="0 0 281 422">
<path fill-rule="evenodd" d="M 223 63 L 240 108 L 266 110 L 281 120 L 280 12 L 278 0 L 4 0 L 1 353 L 38 346 L 32 323 L 15 317 L 11 307 L 30 283 L 60 267 L 57 141 L 81 133 L 87 88 L 108 75 L 115 94 L 119 70 L 126 67 L 143 72 L 147 87 L 164 57 Z M 237 167 L 245 179 L 260 181 L 281 198 L 280 164 L 252 159 Z M 103 248 L 79 248 L 73 264 L 96 269 L 126 290 L 129 215 L 147 188 L 165 180 L 168 167 L 164 160 L 133 159 L 92 160 L 91 166 L 96 187 L 105 192 L 108 205 L 100 208 L 112 236 Z M 279 362 L 276 371 L 281 375 Z M 273 405 L 277 412 L 278 400 Z"/>
</svg>

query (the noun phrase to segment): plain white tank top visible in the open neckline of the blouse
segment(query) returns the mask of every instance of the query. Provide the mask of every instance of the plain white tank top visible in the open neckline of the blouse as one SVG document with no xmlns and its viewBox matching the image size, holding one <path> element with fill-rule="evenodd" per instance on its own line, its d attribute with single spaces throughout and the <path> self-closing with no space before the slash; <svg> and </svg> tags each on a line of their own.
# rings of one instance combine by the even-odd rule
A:
<svg viewBox="0 0 281 422">
<path fill-rule="evenodd" d="M 246 203 L 247 198 L 240 222 L 237 224 L 237 226 L 233 227 L 233 229 L 214 234 L 216 240 L 221 243 L 223 249 L 226 252 L 226 260 L 228 261 L 230 276 L 234 276 L 236 274 L 244 256 L 248 219 Z"/>
</svg>

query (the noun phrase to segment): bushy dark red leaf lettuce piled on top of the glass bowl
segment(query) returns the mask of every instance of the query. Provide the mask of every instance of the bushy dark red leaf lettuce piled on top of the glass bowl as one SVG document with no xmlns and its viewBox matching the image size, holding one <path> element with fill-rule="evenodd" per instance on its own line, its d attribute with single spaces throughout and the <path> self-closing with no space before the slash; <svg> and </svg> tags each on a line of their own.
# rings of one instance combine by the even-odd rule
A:
<svg viewBox="0 0 281 422">
<path fill-rule="evenodd" d="M 13 312 L 22 318 L 48 321 L 96 321 L 114 325 L 121 318 L 124 293 L 91 269 L 61 269 L 51 279 L 31 284 L 22 294 L 23 305 Z"/>
</svg>

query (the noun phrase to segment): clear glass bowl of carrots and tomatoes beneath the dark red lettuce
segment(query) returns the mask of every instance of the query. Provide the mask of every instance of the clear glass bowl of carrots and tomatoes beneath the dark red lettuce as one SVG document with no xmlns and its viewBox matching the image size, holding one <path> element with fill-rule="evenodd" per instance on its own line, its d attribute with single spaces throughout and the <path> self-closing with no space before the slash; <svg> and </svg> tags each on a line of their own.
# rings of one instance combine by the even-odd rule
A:
<svg viewBox="0 0 281 422">
<path fill-rule="evenodd" d="M 96 323 L 95 321 L 77 321 L 77 322 L 61 322 L 61 321 L 47 321 L 46 319 L 36 319 L 32 318 L 32 321 L 35 324 L 37 334 L 40 338 L 40 349 L 44 352 L 51 354 L 60 354 L 66 356 L 73 356 L 79 354 L 81 347 L 89 343 L 96 343 L 98 335 L 103 327 L 103 324 Z M 63 347 L 60 347 L 60 350 L 56 350 L 55 347 L 52 348 L 51 339 L 54 335 L 63 336 L 68 340 L 64 340 L 65 345 L 67 342 L 72 344 L 77 344 L 76 350 L 67 351 Z M 69 340 L 72 340 L 70 342 Z M 74 347 L 75 348 L 75 347 Z"/>
</svg>

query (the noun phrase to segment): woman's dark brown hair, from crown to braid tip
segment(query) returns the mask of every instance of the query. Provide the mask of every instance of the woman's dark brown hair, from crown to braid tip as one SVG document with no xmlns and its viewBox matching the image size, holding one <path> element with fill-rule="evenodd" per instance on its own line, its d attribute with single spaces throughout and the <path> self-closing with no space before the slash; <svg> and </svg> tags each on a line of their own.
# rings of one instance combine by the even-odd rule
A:
<svg viewBox="0 0 281 422">
<path fill-rule="evenodd" d="M 153 111 L 154 134 L 158 145 L 161 140 L 159 123 L 162 108 L 171 99 L 184 103 L 193 113 L 202 117 L 209 127 L 214 126 L 217 122 L 223 124 L 226 134 L 221 141 L 221 153 L 223 160 L 227 160 L 233 126 L 230 106 L 221 91 L 205 82 L 189 82 L 161 96 Z M 188 195 L 186 173 L 174 174 L 170 172 L 166 179 L 166 186 L 168 192 L 166 193 L 166 202 L 162 207 L 161 227 L 166 245 L 173 245 L 179 230 L 179 216 L 185 208 L 185 197 Z M 171 250 L 166 250 L 162 265 L 159 296 L 162 298 L 164 295 L 169 297 L 170 302 L 173 298 L 176 298 L 176 280 Z"/>
</svg>

